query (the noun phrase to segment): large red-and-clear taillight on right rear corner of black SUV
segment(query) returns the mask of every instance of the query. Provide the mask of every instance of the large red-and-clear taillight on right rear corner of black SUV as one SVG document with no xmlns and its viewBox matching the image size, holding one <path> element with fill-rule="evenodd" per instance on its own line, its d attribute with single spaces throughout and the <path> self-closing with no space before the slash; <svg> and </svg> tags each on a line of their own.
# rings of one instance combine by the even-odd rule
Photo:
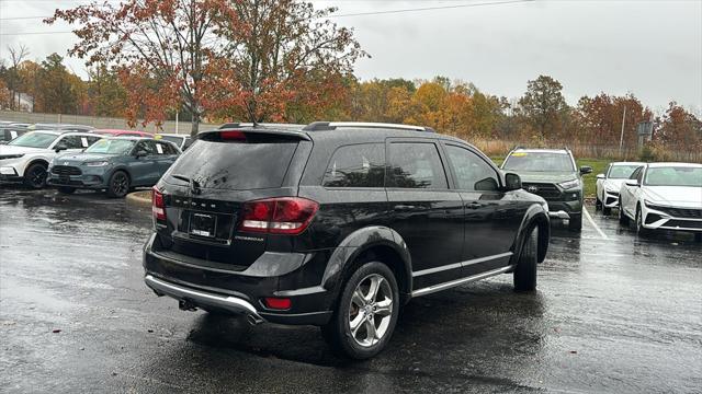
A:
<svg viewBox="0 0 702 394">
<path fill-rule="evenodd" d="M 317 209 L 319 204 L 299 197 L 245 202 L 239 230 L 296 235 L 307 229 Z"/>
</svg>

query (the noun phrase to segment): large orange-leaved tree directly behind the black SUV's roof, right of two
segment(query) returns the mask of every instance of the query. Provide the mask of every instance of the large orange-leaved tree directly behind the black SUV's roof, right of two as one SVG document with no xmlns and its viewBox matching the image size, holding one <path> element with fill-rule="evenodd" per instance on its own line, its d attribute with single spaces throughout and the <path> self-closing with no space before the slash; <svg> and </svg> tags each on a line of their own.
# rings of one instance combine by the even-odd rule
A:
<svg viewBox="0 0 702 394">
<path fill-rule="evenodd" d="M 285 120 L 288 103 L 320 105 L 353 71 L 365 54 L 352 31 L 329 20 L 335 8 L 315 10 L 294 0 L 231 2 L 241 26 L 220 31 L 224 56 L 212 61 L 207 73 L 212 95 L 207 105 L 216 114 L 249 121 Z M 314 77 L 314 78 L 310 78 Z"/>
</svg>

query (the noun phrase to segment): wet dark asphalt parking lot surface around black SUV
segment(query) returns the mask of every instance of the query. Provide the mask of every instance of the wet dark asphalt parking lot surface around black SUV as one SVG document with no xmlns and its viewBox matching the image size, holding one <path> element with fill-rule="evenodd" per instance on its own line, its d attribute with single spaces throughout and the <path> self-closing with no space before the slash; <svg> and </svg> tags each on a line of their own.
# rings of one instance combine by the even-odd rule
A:
<svg viewBox="0 0 702 394">
<path fill-rule="evenodd" d="M 0 186 L 0 391 L 702 391 L 702 245 L 590 211 L 554 228 L 539 291 L 505 275 L 412 300 L 355 362 L 315 327 L 182 312 L 143 282 L 148 209 Z"/>
</svg>

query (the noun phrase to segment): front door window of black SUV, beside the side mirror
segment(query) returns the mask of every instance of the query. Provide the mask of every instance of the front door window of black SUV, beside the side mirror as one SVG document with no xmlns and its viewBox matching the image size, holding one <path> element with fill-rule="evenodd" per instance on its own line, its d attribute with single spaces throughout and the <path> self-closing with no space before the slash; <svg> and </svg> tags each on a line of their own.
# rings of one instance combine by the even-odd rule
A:
<svg viewBox="0 0 702 394">
<path fill-rule="evenodd" d="M 446 153 L 456 175 L 457 188 L 463 190 L 497 190 L 495 170 L 477 154 L 465 148 L 446 146 Z"/>
</svg>

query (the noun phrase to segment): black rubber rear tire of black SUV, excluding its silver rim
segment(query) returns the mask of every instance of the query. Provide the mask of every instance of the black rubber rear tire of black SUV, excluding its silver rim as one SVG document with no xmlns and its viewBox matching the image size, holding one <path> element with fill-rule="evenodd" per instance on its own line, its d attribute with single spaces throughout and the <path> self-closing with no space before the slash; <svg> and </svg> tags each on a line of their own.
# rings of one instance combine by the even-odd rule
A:
<svg viewBox="0 0 702 394">
<path fill-rule="evenodd" d="M 353 291 L 359 282 L 372 274 L 378 274 L 388 281 L 393 292 L 393 313 L 385 336 L 377 344 L 371 347 L 362 347 L 356 344 L 351 336 L 348 321 L 349 305 L 351 303 Z M 343 355 L 356 360 L 371 358 L 381 352 L 392 338 L 395 326 L 397 325 L 399 304 L 399 290 L 393 270 L 381 262 L 365 263 L 360 266 L 343 285 L 333 317 L 329 325 L 324 327 L 322 334 L 325 338 L 330 340 L 337 350 L 341 351 Z"/>
</svg>

